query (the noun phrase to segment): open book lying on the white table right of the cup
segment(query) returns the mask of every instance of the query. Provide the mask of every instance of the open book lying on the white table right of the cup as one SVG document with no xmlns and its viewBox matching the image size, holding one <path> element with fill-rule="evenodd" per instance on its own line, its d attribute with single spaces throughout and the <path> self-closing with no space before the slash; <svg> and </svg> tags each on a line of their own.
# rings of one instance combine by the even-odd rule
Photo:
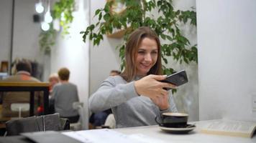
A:
<svg viewBox="0 0 256 143">
<path fill-rule="evenodd" d="M 230 135 L 237 137 L 252 137 L 255 133 L 256 122 L 233 120 L 213 120 L 201 127 L 201 132 L 207 134 Z"/>
</svg>

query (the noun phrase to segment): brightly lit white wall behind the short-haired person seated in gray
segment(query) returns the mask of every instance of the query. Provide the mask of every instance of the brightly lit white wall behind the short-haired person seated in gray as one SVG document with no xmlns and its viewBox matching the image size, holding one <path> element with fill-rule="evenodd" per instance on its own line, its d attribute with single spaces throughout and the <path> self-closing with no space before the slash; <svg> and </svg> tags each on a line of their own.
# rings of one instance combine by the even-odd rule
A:
<svg viewBox="0 0 256 143">
<path fill-rule="evenodd" d="M 78 95 L 81 102 L 84 103 L 86 111 L 86 124 L 88 127 L 88 72 L 89 72 L 89 50 L 88 43 L 83 43 L 80 31 L 88 26 L 88 1 L 77 1 L 78 11 L 73 12 L 73 23 L 70 25 L 70 35 L 58 35 L 55 47 L 51 51 L 50 71 L 58 72 L 61 67 L 70 69 L 70 82 L 78 86 Z"/>
</svg>

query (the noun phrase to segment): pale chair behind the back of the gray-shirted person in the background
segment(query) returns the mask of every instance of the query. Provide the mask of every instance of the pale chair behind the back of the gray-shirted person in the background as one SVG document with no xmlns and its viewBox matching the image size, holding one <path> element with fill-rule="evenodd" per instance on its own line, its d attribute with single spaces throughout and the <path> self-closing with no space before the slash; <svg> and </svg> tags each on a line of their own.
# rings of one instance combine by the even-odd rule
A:
<svg viewBox="0 0 256 143">
<path fill-rule="evenodd" d="M 85 111 L 83 109 L 83 102 L 73 102 L 73 109 L 78 110 L 78 114 L 80 118 L 78 122 L 70 124 L 70 129 L 75 131 L 86 129 L 86 125 L 85 125 L 86 117 L 85 117 Z"/>
</svg>

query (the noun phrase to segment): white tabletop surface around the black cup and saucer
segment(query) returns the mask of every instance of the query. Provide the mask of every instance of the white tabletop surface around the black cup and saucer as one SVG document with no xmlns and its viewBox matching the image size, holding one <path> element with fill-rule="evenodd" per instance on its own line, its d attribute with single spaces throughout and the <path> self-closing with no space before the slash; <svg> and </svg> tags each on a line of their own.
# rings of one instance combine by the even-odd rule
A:
<svg viewBox="0 0 256 143">
<path fill-rule="evenodd" d="M 204 125 L 204 122 L 190 122 L 189 124 L 196 124 L 196 129 L 189 132 L 188 134 L 170 134 L 163 132 L 157 125 L 156 126 L 146 126 L 146 127 L 130 127 L 130 128 L 120 128 L 114 129 L 114 131 L 121 132 L 123 134 L 145 134 L 148 137 L 153 137 L 156 139 L 161 139 L 166 142 L 195 142 L 195 143 L 256 143 L 256 135 L 252 138 L 246 137 L 231 137 L 224 135 L 215 134 L 204 134 L 199 132 L 200 127 Z"/>
</svg>

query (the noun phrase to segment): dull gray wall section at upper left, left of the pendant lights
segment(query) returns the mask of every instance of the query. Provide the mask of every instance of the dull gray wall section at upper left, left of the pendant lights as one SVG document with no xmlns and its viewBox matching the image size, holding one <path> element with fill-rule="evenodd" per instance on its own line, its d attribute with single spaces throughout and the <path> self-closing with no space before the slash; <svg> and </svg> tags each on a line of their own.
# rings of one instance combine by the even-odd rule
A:
<svg viewBox="0 0 256 143">
<path fill-rule="evenodd" d="M 44 56 L 39 48 L 40 23 L 33 21 L 36 0 L 15 1 L 14 49 L 15 58 L 37 59 L 42 63 Z"/>
</svg>

